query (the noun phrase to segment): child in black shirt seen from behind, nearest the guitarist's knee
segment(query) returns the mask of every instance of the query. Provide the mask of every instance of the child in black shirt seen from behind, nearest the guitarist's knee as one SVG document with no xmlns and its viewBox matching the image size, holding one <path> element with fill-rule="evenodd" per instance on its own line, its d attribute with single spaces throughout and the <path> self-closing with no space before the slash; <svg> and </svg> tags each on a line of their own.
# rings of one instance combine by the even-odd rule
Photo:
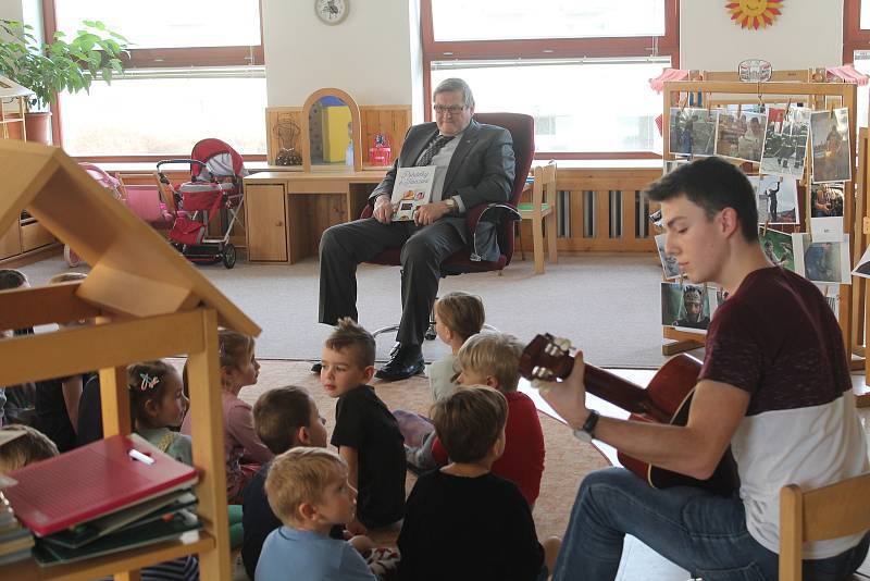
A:
<svg viewBox="0 0 870 581">
<path fill-rule="evenodd" d="M 452 462 L 420 477 L 408 497 L 399 579 L 547 579 L 560 542 L 545 551 L 517 485 L 490 472 L 507 418 L 505 396 L 489 387 L 463 386 L 435 404 L 432 420 Z"/>
</svg>

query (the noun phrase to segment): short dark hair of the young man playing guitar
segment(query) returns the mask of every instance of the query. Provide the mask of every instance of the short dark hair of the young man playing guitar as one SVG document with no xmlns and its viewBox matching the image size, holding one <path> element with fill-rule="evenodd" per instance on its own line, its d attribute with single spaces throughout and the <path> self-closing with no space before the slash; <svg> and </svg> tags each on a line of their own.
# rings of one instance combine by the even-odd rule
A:
<svg viewBox="0 0 870 581">
<path fill-rule="evenodd" d="M 758 206 L 755 189 L 736 165 L 722 158 L 703 158 L 680 165 L 646 191 L 652 201 L 685 196 L 712 219 L 723 208 L 733 208 L 746 242 L 758 239 Z"/>
</svg>

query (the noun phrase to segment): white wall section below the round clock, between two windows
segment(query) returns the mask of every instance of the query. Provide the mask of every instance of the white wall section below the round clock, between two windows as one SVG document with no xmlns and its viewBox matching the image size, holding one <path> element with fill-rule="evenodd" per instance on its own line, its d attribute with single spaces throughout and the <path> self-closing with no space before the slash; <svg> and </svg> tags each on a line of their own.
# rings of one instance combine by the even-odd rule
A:
<svg viewBox="0 0 870 581">
<path fill-rule="evenodd" d="M 409 0 L 349 3 L 347 18 L 330 26 L 312 0 L 263 0 L 270 106 L 301 106 L 324 87 L 347 91 L 358 104 L 411 103 Z"/>
</svg>

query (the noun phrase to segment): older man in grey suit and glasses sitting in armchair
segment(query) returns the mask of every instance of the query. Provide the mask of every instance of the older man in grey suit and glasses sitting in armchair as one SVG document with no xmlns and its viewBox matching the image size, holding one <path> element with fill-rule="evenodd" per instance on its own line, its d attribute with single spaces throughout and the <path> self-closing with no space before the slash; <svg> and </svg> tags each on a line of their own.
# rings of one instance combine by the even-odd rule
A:
<svg viewBox="0 0 870 581">
<path fill-rule="evenodd" d="M 401 248 L 402 313 L 391 359 L 380 379 L 401 380 L 423 371 L 421 345 L 438 292 L 440 264 L 468 248 L 465 212 L 510 199 L 514 156 L 510 133 L 477 123 L 474 97 L 464 81 L 448 78 L 433 94 L 435 121 L 408 131 L 399 157 L 369 197 L 372 218 L 337 224 L 320 243 L 320 322 L 357 320 L 357 264 L 389 248 Z M 393 184 L 399 168 L 434 165 L 432 200 L 413 222 L 393 222 Z M 314 366 L 316 368 L 318 366 Z M 312 371 L 315 369 L 312 369 Z"/>
</svg>

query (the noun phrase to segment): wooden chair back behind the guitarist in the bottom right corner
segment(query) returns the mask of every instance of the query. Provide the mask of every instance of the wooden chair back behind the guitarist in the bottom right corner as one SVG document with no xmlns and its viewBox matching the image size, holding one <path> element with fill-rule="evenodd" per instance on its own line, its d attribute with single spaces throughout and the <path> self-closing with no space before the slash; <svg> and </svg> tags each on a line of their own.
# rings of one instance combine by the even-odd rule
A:
<svg viewBox="0 0 870 581">
<path fill-rule="evenodd" d="M 805 542 L 836 539 L 870 529 L 868 497 L 870 472 L 807 492 L 796 484 L 783 486 L 780 490 L 780 581 L 801 580 Z"/>
</svg>

